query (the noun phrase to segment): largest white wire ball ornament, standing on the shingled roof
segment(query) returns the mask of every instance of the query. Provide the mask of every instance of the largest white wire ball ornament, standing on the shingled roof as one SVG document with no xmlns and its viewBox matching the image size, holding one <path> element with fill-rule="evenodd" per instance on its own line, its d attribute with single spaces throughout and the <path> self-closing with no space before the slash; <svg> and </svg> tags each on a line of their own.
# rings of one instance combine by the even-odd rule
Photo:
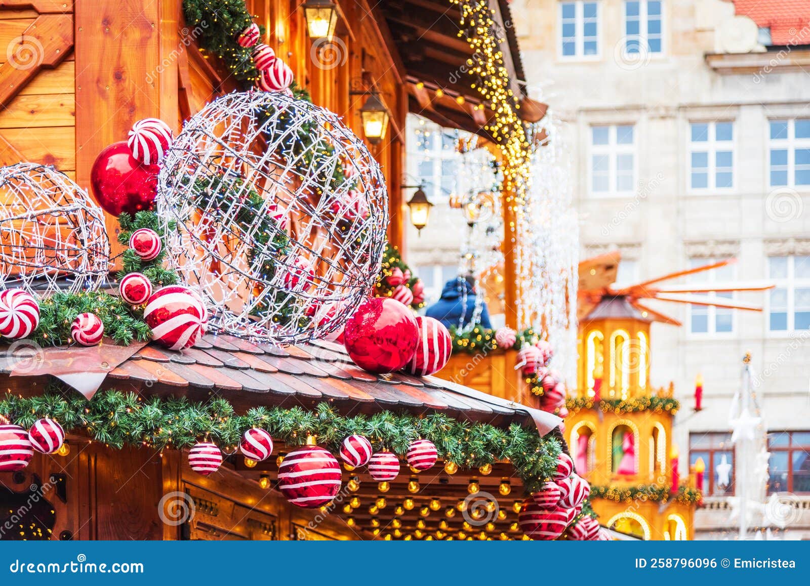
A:
<svg viewBox="0 0 810 586">
<path fill-rule="evenodd" d="M 221 96 L 164 159 L 168 262 L 209 327 L 263 342 L 338 333 L 377 278 L 388 225 L 379 164 L 335 113 L 281 92 Z"/>
</svg>

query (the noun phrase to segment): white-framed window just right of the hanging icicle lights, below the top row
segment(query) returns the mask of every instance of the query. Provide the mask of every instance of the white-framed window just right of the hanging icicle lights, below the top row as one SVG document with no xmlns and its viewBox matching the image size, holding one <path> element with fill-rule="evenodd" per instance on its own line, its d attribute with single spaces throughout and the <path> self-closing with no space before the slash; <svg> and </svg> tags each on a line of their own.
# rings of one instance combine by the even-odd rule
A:
<svg viewBox="0 0 810 586">
<path fill-rule="evenodd" d="M 632 124 L 590 127 L 590 193 L 633 193 L 636 140 Z"/>
</svg>

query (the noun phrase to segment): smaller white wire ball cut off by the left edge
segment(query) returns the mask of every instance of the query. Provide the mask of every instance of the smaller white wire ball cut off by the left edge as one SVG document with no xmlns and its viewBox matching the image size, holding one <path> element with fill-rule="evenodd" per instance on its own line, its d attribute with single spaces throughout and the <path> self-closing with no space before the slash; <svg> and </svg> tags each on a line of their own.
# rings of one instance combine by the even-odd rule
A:
<svg viewBox="0 0 810 586">
<path fill-rule="evenodd" d="M 0 168 L 0 287 L 95 291 L 108 270 L 104 212 L 84 189 L 38 163 Z"/>
</svg>

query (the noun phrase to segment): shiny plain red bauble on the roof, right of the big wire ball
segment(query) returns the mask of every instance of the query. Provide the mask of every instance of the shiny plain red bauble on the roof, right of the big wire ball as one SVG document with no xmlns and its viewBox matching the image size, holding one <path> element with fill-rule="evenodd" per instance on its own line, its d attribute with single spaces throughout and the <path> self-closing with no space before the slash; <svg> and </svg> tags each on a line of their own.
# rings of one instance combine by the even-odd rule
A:
<svg viewBox="0 0 810 586">
<path fill-rule="evenodd" d="M 368 372 L 398 371 L 419 342 L 413 312 L 387 297 L 366 299 L 346 322 L 343 343 L 354 363 Z"/>
</svg>

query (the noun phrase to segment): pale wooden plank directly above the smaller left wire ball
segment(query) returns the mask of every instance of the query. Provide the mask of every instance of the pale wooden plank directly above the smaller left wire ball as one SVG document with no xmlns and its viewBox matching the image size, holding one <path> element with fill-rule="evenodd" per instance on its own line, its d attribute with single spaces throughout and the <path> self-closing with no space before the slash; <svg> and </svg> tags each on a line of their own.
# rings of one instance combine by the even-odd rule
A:
<svg viewBox="0 0 810 586">
<path fill-rule="evenodd" d="M 60 171 L 76 168 L 76 135 L 72 126 L 2 129 L 0 136 L 19 152 L 20 158 L 15 163 L 20 160 L 45 163 Z M 88 183 L 85 181 L 83 185 Z"/>
</svg>

